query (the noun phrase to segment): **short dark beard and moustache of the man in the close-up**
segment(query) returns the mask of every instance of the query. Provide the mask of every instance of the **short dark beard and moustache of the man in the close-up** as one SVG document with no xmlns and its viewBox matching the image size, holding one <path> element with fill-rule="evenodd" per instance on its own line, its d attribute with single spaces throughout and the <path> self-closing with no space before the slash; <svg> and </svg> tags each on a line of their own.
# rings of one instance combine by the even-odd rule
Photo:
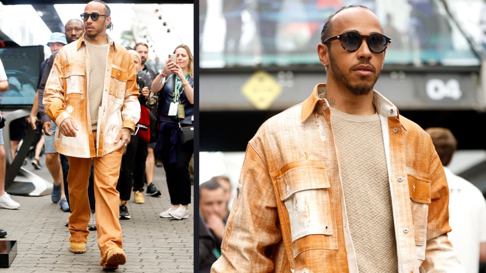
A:
<svg viewBox="0 0 486 273">
<path fill-rule="evenodd" d="M 330 60 L 330 68 L 332 70 L 332 73 L 334 74 L 334 79 L 336 82 L 339 84 L 343 85 L 348 89 L 351 93 L 355 95 L 366 95 L 369 94 L 370 91 L 373 90 L 373 87 L 378 80 L 378 77 L 380 76 L 381 71 L 379 71 L 377 74 L 374 75 L 373 83 L 368 84 L 364 82 L 359 82 L 356 84 L 352 84 L 350 80 L 350 73 L 353 71 L 353 67 L 356 67 L 360 64 L 366 64 L 370 65 L 373 67 L 373 71 L 376 72 L 375 67 L 370 64 L 369 62 L 359 62 L 358 64 L 354 65 L 352 68 L 349 69 L 348 73 L 344 73 L 343 70 L 339 68 L 339 66 L 336 64 L 335 59 L 332 57 L 332 55 L 329 55 L 329 60 Z M 360 76 L 361 79 L 365 79 L 366 76 Z"/>
</svg>

